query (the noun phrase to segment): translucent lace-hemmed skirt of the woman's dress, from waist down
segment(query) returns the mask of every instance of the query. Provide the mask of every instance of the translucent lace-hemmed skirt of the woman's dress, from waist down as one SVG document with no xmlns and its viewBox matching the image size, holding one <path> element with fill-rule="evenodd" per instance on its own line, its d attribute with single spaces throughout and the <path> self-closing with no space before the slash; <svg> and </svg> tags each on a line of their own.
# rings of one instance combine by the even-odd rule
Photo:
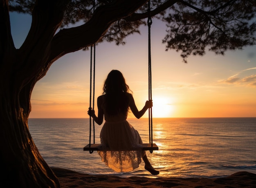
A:
<svg viewBox="0 0 256 188">
<path fill-rule="evenodd" d="M 101 129 L 98 151 L 102 162 L 116 172 L 130 172 L 141 163 L 142 140 L 126 116 L 106 117 Z M 110 151 L 107 151 L 110 150 Z M 141 153 L 142 152 L 142 153 Z"/>
</svg>

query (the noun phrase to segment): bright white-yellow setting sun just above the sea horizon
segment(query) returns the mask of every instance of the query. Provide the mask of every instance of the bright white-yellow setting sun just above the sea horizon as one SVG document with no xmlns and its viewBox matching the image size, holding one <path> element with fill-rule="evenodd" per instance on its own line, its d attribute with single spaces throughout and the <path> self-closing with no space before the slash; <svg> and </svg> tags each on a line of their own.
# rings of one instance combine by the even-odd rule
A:
<svg viewBox="0 0 256 188">
<path fill-rule="evenodd" d="M 153 98 L 153 118 L 171 118 L 175 110 L 173 98 L 157 96 Z"/>
</svg>

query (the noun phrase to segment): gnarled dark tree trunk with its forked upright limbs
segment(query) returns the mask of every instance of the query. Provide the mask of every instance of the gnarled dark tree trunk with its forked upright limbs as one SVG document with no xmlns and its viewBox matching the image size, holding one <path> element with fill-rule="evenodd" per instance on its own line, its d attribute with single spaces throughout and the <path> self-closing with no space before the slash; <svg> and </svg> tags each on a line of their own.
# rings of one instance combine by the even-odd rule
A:
<svg viewBox="0 0 256 188">
<path fill-rule="evenodd" d="M 0 181 L 7 188 L 57 188 L 58 178 L 31 138 L 28 117 L 33 87 L 50 66 L 49 44 L 61 23 L 62 10 L 46 0 L 38 2 L 29 36 L 22 48 L 16 49 L 11 37 L 8 1 L 0 3 Z M 50 4 L 51 9 L 43 11 L 42 3 Z M 43 15 L 46 13 L 49 15 Z"/>
</svg>

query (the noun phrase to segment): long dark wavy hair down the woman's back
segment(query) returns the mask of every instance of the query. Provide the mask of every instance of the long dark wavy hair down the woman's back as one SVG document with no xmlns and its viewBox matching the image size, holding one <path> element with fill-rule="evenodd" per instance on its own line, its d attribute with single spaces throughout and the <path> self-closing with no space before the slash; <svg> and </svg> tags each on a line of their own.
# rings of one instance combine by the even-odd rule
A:
<svg viewBox="0 0 256 188">
<path fill-rule="evenodd" d="M 123 74 L 119 70 L 112 70 L 103 86 L 105 96 L 104 106 L 106 114 L 115 116 L 128 113 L 129 108 L 129 86 L 126 84 Z"/>
</svg>

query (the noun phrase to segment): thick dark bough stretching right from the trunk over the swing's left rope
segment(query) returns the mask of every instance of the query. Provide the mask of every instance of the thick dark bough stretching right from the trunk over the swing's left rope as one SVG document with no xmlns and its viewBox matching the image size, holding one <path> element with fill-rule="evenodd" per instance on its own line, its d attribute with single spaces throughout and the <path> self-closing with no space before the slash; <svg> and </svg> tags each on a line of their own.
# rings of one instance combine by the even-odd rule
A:
<svg viewBox="0 0 256 188">
<path fill-rule="evenodd" d="M 95 44 L 114 22 L 131 15 L 147 1 L 115 0 L 95 9 L 92 18 L 85 24 L 62 29 L 52 40 L 49 63 L 67 53 Z"/>
</svg>

